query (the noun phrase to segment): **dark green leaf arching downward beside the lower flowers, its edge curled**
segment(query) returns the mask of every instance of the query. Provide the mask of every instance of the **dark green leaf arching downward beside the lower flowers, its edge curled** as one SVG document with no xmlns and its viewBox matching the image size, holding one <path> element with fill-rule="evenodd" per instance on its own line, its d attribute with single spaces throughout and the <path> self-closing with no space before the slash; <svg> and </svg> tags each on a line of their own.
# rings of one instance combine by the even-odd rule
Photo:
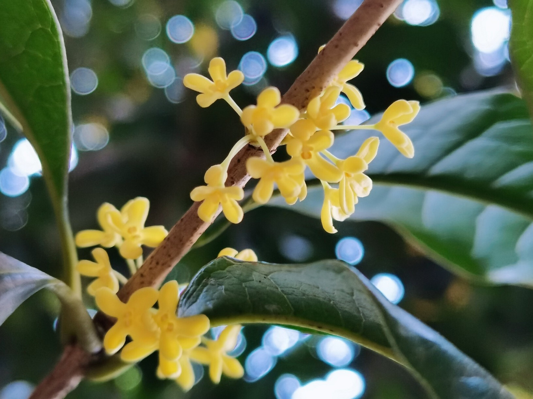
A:
<svg viewBox="0 0 533 399">
<path fill-rule="evenodd" d="M 178 314 L 213 326 L 276 323 L 341 336 L 408 368 L 429 397 L 512 398 L 486 370 L 344 262 L 282 265 L 222 257 L 183 292 Z"/>
</svg>

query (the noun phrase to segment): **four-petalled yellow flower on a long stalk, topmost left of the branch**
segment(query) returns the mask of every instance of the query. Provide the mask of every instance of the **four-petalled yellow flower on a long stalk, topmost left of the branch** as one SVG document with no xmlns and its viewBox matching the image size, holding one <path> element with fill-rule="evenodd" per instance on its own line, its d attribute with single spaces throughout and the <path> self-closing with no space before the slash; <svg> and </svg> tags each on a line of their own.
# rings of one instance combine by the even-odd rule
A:
<svg viewBox="0 0 533 399">
<path fill-rule="evenodd" d="M 196 101 L 201 107 L 208 107 L 217 99 L 229 96 L 231 89 L 239 86 L 244 80 L 241 71 L 231 71 L 226 76 L 226 63 L 220 57 L 215 57 L 209 62 L 209 75 L 211 79 L 201 76 L 198 73 L 188 73 L 183 78 L 183 85 L 189 89 L 200 92 L 196 96 Z"/>
</svg>

